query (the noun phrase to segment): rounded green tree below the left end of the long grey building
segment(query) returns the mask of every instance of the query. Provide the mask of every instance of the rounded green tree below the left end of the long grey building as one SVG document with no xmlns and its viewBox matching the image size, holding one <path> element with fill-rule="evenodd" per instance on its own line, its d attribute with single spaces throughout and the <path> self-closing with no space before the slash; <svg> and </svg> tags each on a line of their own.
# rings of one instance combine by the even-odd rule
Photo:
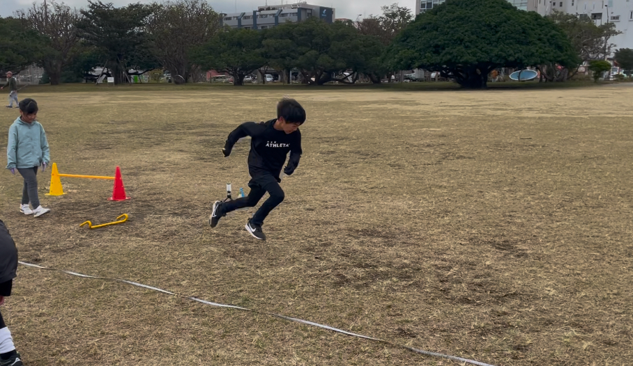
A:
<svg viewBox="0 0 633 366">
<path fill-rule="evenodd" d="M 228 72 L 233 84 L 266 64 L 261 54 L 263 33 L 252 29 L 224 29 L 195 51 L 195 63 L 207 69 Z"/>
</svg>

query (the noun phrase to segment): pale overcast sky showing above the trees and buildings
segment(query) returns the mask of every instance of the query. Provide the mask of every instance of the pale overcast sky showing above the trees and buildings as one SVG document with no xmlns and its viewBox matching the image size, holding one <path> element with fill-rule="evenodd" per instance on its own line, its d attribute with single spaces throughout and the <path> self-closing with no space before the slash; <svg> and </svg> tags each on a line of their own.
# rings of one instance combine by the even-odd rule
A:
<svg viewBox="0 0 633 366">
<path fill-rule="evenodd" d="M 61 0 L 58 0 L 62 2 Z M 150 3 L 153 0 L 140 0 L 142 3 Z M 268 5 L 275 5 L 281 3 L 282 0 L 268 0 Z M 39 2 L 43 2 L 43 0 L 38 0 Z M 102 0 L 102 2 L 112 2 L 115 6 L 125 6 L 128 3 L 135 3 L 138 1 L 128 1 L 128 0 Z M 284 0 L 284 3 L 287 1 Z M 288 1 L 289 3 L 294 3 L 296 1 Z M 334 0 L 311 0 L 307 1 L 307 3 L 319 5 L 319 6 L 329 6 L 336 9 L 336 17 L 337 18 L 348 18 L 355 20 L 358 15 L 361 17 L 381 14 L 380 7 L 383 5 L 390 5 L 391 3 L 399 3 L 400 6 L 406 6 L 407 8 L 413 10 L 415 8 L 415 0 L 345 0 L 345 1 L 334 1 Z M 13 15 L 15 10 L 29 8 L 33 4 L 33 0 L 1 0 L 0 3 L 0 15 L 2 17 L 8 17 Z M 88 0 L 64 0 L 63 3 L 66 3 L 68 6 L 82 8 L 88 4 Z M 266 0 L 208 0 L 208 3 L 213 6 L 213 9 L 220 13 L 235 13 L 236 3 L 238 11 L 252 11 L 257 6 L 263 6 L 266 4 Z"/>
</svg>

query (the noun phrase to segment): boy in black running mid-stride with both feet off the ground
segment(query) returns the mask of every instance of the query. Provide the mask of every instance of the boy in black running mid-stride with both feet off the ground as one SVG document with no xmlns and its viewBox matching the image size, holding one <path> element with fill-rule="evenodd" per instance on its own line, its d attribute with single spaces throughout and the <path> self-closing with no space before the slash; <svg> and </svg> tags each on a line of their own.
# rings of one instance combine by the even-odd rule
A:
<svg viewBox="0 0 633 366">
<path fill-rule="evenodd" d="M 284 191 L 279 185 L 280 174 L 288 152 L 290 159 L 284 168 L 285 175 L 291 175 L 299 165 L 301 150 L 301 132 L 299 126 L 305 122 L 305 110 L 296 101 L 284 99 L 277 104 L 277 118 L 268 122 L 245 122 L 236 128 L 222 149 L 224 157 L 229 157 L 235 143 L 243 137 L 250 136 L 250 152 L 248 153 L 248 196 L 229 202 L 215 201 L 213 212 L 209 216 L 209 225 L 215 228 L 220 218 L 231 211 L 243 207 L 254 207 L 268 192 L 270 197 L 259 207 L 257 212 L 246 223 L 246 231 L 260 240 L 266 240 L 261 231 L 264 218 L 284 200 Z"/>
</svg>

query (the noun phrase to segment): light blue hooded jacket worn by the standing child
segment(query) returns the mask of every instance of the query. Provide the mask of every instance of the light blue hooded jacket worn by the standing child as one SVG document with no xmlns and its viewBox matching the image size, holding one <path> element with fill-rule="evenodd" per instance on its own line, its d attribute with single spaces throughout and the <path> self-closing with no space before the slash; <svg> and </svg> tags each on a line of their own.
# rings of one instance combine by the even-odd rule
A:
<svg viewBox="0 0 633 366">
<path fill-rule="evenodd" d="M 26 123 L 17 118 L 9 127 L 9 139 L 6 147 L 7 169 L 33 168 L 42 163 L 49 164 L 50 151 L 46 132 L 40 122 Z"/>
</svg>

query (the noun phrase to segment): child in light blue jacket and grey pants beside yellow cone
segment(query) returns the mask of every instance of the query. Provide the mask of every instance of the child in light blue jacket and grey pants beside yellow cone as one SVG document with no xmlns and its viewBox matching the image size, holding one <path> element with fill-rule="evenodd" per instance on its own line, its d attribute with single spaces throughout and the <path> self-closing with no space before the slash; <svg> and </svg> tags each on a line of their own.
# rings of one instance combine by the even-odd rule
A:
<svg viewBox="0 0 633 366">
<path fill-rule="evenodd" d="M 24 177 L 24 189 L 22 189 L 22 205 L 20 212 L 38 217 L 50 212 L 50 209 L 40 205 L 38 198 L 38 167 L 42 171 L 50 162 L 50 152 L 46 132 L 38 116 L 38 103 L 31 98 L 20 102 L 20 117 L 9 127 L 9 139 L 6 148 L 6 168 L 15 175 L 15 170 Z M 31 207 L 29 207 L 31 202 Z"/>
</svg>

